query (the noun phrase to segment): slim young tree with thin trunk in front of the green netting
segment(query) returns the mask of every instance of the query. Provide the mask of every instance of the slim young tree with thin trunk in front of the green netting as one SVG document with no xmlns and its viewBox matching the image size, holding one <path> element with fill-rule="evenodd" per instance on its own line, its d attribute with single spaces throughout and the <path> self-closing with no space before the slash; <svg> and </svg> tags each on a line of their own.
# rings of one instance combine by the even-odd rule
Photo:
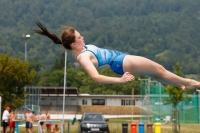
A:
<svg viewBox="0 0 200 133">
<path fill-rule="evenodd" d="M 180 67 L 179 63 L 177 62 L 175 64 L 175 66 L 173 67 L 174 69 L 174 73 L 178 76 L 183 77 L 184 74 L 182 73 L 182 68 Z M 173 111 L 173 117 L 172 119 L 174 119 L 174 131 L 175 133 L 178 133 L 178 104 L 182 101 L 187 101 L 187 100 L 191 100 L 190 97 L 187 96 L 187 93 L 190 93 L 191 91 L 185 92 L 183 91 L 181 88 L 179 87 L 174 87 L 174 86 L 167 86 L 164 88 L 164 90 L 169 94 L 169 98 L 165 98 L 165 104 L 170 104 L 172 103 L 172 106 L 174 108 Z M 177 120 L 178 119 L 178 120 Z"/>
</svg>

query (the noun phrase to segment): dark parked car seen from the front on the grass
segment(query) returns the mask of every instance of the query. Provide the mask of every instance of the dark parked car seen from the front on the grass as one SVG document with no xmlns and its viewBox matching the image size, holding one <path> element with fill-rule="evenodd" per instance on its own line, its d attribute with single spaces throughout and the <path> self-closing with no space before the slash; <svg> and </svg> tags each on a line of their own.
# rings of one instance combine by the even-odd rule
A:
<svg viewBox="0 0 200 133">
<path fill-rule="evenodd" d="M 102 113 L 84 113 L 79 121 L 79 133 L 110 133 L 108 121 Z"/>
</svg>

